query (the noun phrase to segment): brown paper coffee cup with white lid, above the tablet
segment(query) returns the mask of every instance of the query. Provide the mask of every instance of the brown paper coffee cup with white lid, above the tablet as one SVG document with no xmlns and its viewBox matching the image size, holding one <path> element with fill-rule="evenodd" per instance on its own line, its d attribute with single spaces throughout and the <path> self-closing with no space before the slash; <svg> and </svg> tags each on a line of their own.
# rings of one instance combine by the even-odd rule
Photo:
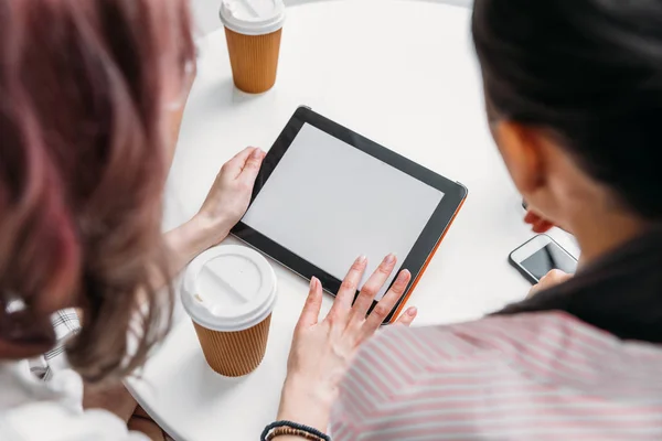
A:
<svg viewBox="0 0 662 441">
<path fill-rule="evenodd" d="M 223 0 L 220 15 L 235 86 L 249 94 L 269 90 L 278 71 L 282 0 Z"/>
</svg>

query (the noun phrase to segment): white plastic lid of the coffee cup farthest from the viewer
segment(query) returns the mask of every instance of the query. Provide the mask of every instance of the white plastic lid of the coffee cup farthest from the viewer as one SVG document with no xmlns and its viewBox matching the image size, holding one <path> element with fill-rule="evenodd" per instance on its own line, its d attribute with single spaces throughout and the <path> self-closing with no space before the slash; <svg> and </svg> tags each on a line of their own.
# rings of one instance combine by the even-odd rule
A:
<svg viewBox="0 0 662 441">
<path fill-rule="evenodd" d="M 223 0 L 221 21 L 244 35 L 264 35 L 278 31 L 285 21 L 282 0 Z"/>
</svg>

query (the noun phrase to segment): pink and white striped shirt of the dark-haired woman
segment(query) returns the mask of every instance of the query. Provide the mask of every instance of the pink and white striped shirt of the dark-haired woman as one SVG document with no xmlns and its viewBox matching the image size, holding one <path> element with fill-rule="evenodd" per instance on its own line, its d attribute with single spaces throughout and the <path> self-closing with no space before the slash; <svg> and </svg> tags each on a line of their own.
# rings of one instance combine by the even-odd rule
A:
<svg viewBox="0 0 662 441">
<path fill-rule="evenodd" d="M 662 440 L 662 349 L 564 312 L 392 326 L 361 349 L 344 440 Z"/>
</svg>

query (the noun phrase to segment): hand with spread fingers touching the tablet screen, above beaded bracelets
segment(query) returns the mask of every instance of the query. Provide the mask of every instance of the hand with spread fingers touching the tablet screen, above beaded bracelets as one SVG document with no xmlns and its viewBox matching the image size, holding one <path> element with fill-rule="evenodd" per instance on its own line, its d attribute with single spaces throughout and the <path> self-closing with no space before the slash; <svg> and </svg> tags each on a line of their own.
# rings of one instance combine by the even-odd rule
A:
<svg viewBox="0 0 662 441">
<path fill-rule="evenodd" d="M 310 293 L 295 329 L 279 420 L 311 426 L 322 432 L 327 430 L 340 380 L 360 345 L 380 327 L 412 279 L 409 271 L 401 271 L 388 292 L 366 316 L 373 299 L 393 272 L 395 263 L 395 256 L 386 256 L 352 305 L 367 266 L 365 257 L 357 258 L 342 282 L 331 311 L 321 321 L 318 318 L 322 305 L 322 286 L 316 278 L 310 281 Z M 396 323 L 409 325 L 415 318 L 416 309 L 409 308 Z"/>
</svg>

